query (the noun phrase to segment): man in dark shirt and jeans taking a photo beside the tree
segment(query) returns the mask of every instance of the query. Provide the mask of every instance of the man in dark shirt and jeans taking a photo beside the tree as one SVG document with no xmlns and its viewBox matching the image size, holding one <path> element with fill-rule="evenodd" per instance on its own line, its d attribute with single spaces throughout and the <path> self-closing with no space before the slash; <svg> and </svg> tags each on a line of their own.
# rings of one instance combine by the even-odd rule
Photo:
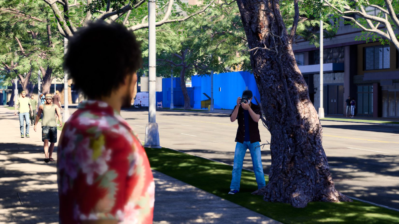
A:
<svg viewBox="0 0 399 224">
<path fill-rule="evenodd" d="M 234 195 L 240 190 L 241 169 L 243 168 L 244 156 L 247 149 L 249 149 L 251 153 L 258 189 L 266 185 L 261 160 L 261 148 L 259 147 L 261 136 L 259 134 L 258 121 L 262 114 L 260 107 L 251 103 L 251 100 L 251 90 L 244 90 L 242 98 L 237 98 L 237 105 L 230 114 L 231 122 L 238 119 L 238 129 L 235 137 L 235 142 L 237 142 L 237 144 L 234 152 L 230 195 Z"/>
</svg>

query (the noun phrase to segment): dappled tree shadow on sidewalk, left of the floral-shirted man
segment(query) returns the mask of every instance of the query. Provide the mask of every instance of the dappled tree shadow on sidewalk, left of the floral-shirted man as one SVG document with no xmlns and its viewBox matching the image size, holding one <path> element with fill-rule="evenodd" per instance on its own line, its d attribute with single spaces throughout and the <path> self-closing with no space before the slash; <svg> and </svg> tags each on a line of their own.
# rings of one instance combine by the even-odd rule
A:
<svg viewBox="0 0 399 224">
<path fill-rule="evenodd" d="M 56 164 L 43 158 L 42 146 L 0 143 L 0 222 L 58 223 Z"/>
</svg>

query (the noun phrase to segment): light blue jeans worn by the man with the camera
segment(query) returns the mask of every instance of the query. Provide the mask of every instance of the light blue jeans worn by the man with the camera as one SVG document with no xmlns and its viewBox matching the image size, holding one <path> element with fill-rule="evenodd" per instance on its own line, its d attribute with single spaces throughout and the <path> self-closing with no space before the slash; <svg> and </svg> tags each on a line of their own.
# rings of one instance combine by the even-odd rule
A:
<svg viewBox="0 0 399 224">
<path fill-rule="evenodd" d="M 261 148 L 258 147 L 259 142 L 237 142 L 235 145 L 234 152 L 234 164 L 230 189 L 240 190 L 241 181 L 241 169 L 243 169 L 243 162 L 245 152 L 249 149 L 252 158 L 253 171 L 255 171 L 256 183 L 258 184 L 258 189 L 266 186 L 265 174 L 263 173 L 262 159 L 261 159 Z"/>
</svg>

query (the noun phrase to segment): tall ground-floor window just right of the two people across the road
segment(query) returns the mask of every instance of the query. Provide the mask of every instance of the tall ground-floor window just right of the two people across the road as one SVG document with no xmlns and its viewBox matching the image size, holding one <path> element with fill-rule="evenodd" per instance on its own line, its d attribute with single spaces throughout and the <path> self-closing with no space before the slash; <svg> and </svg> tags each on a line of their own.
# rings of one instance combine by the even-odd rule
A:
<svg viewBox="0 0 399 224">
<path fill-rule="evenodd" d="M 360 114 L 373 114 L 373 86 L 358 86 L 356 108 Z"/>
</svg>

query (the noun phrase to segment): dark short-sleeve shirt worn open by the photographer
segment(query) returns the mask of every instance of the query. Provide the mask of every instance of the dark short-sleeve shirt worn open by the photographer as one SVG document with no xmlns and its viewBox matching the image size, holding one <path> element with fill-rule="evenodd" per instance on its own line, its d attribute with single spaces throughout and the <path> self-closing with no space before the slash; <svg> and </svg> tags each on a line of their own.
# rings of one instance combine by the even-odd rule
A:
<svg viewBox="0 0 399 224">
<path fill-rule="evenodd" d="M 235 107 L 237 107 L 237 105 Z M 234 109 L 235 109 L 235 107 L 234 107 Z M 234 111 L 234 109 L 233 109 L 233 111 Z M 256 114 L 259 114 L 262 116 L 261 108 L 258 105 L 251 103 L 251 109 Z M 233 112 L 231 112 L 230 117 L 232 114 L 233 114 Z M 244 137 L 245 137 L 245 119 L 244 119 L 244 109 L 242 107 L 238 108 L 238 114 L 237 114 L 236 119 L 238 122 L 238 128 L 237 128 L 237 135 L 235 136 L 235 142 L 243 143 Z M 259 134 L 258 123 L 253 121 L 251 115 L 248 116 L 248 126 L 249 126 L 249 141 L 251 143 L 260 142 L 261 135 Z"/>
</svg>

